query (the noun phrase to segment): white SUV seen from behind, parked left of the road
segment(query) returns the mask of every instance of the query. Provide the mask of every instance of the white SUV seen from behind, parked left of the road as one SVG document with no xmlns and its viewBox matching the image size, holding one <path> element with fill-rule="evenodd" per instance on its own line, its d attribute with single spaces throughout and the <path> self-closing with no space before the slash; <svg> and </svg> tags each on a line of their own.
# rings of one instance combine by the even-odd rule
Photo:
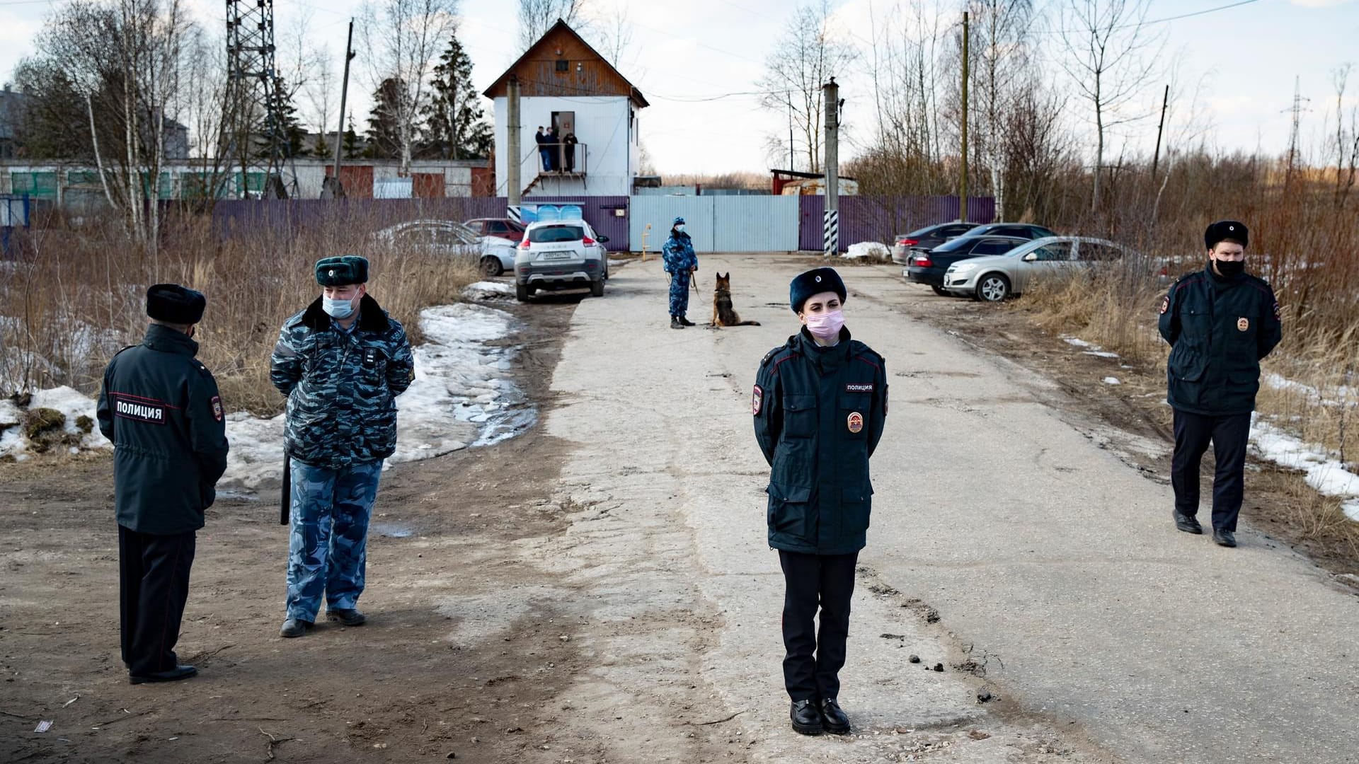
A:
<svg viewBox="0 0 1359 764">
<path fill-rule="evenodd" d="M 529 223 L 515 250 L 515 296 L 522 302 L 538 290 L 590 287 L 603 296 L 609 279 L 609 237 L 594 232 L 584 220 L 541 220 Z"/>
</svg>

